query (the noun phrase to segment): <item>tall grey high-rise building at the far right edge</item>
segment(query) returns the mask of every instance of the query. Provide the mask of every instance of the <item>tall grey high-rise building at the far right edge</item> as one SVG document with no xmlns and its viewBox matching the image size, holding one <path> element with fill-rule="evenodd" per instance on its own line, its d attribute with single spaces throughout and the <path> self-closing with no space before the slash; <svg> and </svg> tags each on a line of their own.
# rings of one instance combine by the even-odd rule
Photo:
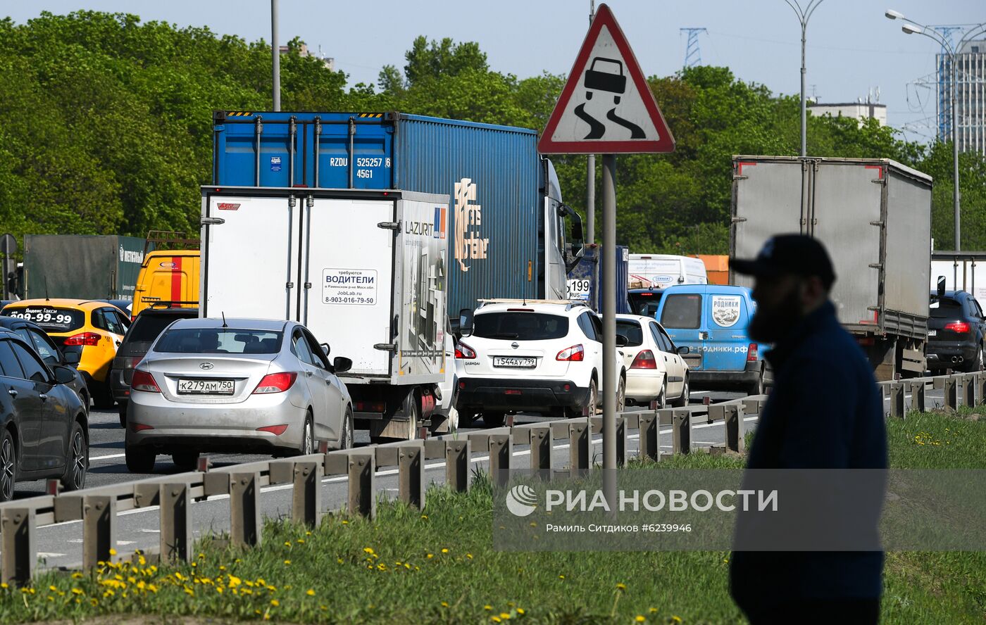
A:
<svg viewBox="0 0 986 625">
<path fill-rule="evenodd" d="M 951 139 L 951 66 L 938 55 L 938 138 Z M 986 156 L 986 39 L 968 41 L 955 58 L 956 137 L 962 152 Z"/>
</svg>

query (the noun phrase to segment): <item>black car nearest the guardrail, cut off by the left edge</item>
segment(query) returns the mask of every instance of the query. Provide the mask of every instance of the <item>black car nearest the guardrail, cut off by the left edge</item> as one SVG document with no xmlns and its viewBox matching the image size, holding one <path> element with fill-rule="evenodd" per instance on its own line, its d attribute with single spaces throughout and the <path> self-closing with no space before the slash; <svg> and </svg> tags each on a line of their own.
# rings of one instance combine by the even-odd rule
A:
<svg viewBox="0 0 986 625">
<path fill-rule="evenodd" d="M 89 421 L 68 383 L 75 370 L 51 369 L 35 348 L 0 332 L 0 501 L 22 480 L 60 478 L 66 490 L 86 485 Z"/>
</svg>

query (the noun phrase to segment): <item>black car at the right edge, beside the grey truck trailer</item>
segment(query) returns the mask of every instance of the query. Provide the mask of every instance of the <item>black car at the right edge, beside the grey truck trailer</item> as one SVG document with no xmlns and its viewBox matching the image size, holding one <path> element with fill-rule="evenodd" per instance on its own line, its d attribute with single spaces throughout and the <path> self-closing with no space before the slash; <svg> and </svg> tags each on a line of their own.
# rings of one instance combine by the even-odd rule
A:
<svg viewBox="0 0 986 625">
<path fill-rule="evenodd" d="M 981 371 L 986 319 L 972 294 L 932 293 L 928 316 L 928 369 Z"/>
</svg>

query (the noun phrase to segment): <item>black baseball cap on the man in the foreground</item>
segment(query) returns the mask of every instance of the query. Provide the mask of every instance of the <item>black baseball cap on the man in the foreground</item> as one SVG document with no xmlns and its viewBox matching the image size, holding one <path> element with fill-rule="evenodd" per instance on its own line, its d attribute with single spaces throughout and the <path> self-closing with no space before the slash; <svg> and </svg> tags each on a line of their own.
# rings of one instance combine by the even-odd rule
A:
<svg viewBox="0 0 986 625">
<path fill-rule="evenodd" d="M 785 273 L 818 276 L 825 288 L 835 282 L 835 270 L 825 246 L 808 235 L 777 235 L 763 243 L 756 258 L 735 259 L 730 265 L 738 273 L 770 277 Z"/>
</svg>

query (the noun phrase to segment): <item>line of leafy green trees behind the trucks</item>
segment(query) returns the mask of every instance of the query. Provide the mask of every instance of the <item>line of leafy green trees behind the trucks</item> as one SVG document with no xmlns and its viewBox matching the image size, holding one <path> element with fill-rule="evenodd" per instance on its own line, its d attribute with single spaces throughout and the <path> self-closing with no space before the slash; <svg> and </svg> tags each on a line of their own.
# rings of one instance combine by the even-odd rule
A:
<svg viewBox="0 0 986 625">
<path fill-rule="evenodd" d="M 411 42 L 402 68 L 347 85 L 301 41 L 281 56 L 284 110 L 385 111 L 542 130 L 565 77 L 492 71 L 475 42 Z M 271 58 L 205 28 L 133 15 L 42 13 L 0 21 L 0 231 L 198 231 L 209 181 L 212 110 L 266 110 Z M 728 253 L 732 156 L 796 156 L 799 101 L 728 68 L 651 77 L 677 141 L 669 155 L 620 157 L 617 242 L 634 252 Z M 905 143 L 876 121 L 809 116 L 812 156 L 890 158 L 935 177 L 933 236 L 952 247 L 951 144 Z M 585 157 L 555 157 L 566 203 L 585 215 Z M 986 160 L 962 154 L 962 248 L 986 248 Z M 597 188 L 600 186 L 597 180 Z"/>
</svg>

